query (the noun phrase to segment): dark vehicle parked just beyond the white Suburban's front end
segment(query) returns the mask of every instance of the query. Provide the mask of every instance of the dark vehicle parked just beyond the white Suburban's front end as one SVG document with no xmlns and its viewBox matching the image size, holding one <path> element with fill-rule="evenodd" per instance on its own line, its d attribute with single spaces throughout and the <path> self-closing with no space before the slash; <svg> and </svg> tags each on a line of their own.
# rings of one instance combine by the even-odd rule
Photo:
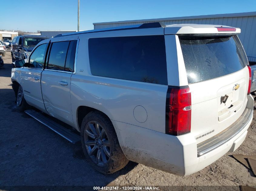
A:
<svg viewBox="0 0 256 191">
<path fill-rule="evenodd" d="M 42 40 L 48 37 L 33 35 L 14 37 L 11 44 L 12 62 L 20 59 L 27 59 L 33 48 Z"/>
</svg>

